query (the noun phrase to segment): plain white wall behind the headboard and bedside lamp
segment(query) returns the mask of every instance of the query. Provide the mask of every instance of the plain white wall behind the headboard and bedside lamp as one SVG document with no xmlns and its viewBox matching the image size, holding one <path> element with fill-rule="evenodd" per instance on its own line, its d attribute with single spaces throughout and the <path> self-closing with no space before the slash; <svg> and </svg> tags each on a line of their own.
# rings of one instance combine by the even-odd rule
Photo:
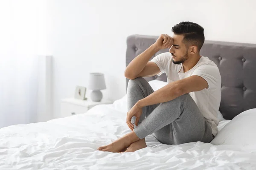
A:
<svg viewBox="0 0 256 170">
<path fill-rule="evenodd" d="M 103 97 L 125 95 L 126 37 L 172 35 L 172 26 L 192 21 L 206 40 L 256 43 L 254 0 L 48 0 L 48 46 L 53 56 L 54 113 L 60 100 L 87 86 L 89 72 L 105 74 Z M 87 91 L 86 96 L 90 96 Z"/>
</svg>

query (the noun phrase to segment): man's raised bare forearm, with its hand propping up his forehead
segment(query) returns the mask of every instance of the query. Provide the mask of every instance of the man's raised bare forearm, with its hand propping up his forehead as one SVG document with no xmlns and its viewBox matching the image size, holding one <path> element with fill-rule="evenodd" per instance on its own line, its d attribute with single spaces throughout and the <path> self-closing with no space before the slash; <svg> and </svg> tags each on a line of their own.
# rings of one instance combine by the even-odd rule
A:
<svg viewBox="0 0 256 170">
<path fill-rule="evenodd" d="M 143 51 L 140 55 L 135 57 L 125 69 L 125 77 L 136 77 L 145 68 L 148 60 L 159 51 L 159 49 L 152 44 L 148 49 Z"/>
</svg>

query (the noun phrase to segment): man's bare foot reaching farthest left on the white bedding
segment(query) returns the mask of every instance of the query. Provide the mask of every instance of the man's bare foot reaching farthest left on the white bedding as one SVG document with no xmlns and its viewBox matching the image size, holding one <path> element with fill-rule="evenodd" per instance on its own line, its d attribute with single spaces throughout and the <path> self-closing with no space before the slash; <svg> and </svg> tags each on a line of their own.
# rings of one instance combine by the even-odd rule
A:
<svg viewBox="0 0 256 170">
<path fill-rule="evenodd" d="M 99 147 L 97 150 L 108 151 L 108 152 L 122 152 L 125 151 L 128 147 L 127 142 L 125 142 L 124 138 L 119 138 L 111 144 Z"/>
</svg>

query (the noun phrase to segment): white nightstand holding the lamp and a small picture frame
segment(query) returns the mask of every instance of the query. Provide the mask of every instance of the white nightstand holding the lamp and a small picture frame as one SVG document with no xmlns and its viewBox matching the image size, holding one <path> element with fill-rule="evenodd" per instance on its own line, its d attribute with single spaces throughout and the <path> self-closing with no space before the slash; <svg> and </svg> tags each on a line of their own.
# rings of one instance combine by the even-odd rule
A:
<svg viewBox="0 0 256 170">
<path fill-rule="evenodd" d="M 100 102 L 93 102 L 90 99 L 79 100 L 74 98 L 61 99 L 61 117 L 85 113 L 90 108 L 100 104 L 112 104 L 109 99 L 102 99 Z"/>
</svg>

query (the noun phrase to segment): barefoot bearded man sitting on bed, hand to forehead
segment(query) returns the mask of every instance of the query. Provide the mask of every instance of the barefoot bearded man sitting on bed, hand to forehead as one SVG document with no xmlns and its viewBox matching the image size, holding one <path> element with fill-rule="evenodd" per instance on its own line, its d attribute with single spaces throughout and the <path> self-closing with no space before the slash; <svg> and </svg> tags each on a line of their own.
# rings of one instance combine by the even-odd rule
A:
<svg viewBox="0 0 256 170">
<path fill-rule="evenodd" d="M 125 69 L 128 113 L 132 130 L 98 150 L 134 152 L 147 147 L 152 134 L 163 144 L 211 142 L 218 133 L 217 112 L 221 101 L 221 75 L 217 65 L 200 55 L 204 28 L 181 22 L 172 27 L 173 37 L 161 34 Z M 149 59 L 158 51 L 170 48 Z M 142 77 L 166 73 L 168 84 L 154 91 Z"/>
</svg>

